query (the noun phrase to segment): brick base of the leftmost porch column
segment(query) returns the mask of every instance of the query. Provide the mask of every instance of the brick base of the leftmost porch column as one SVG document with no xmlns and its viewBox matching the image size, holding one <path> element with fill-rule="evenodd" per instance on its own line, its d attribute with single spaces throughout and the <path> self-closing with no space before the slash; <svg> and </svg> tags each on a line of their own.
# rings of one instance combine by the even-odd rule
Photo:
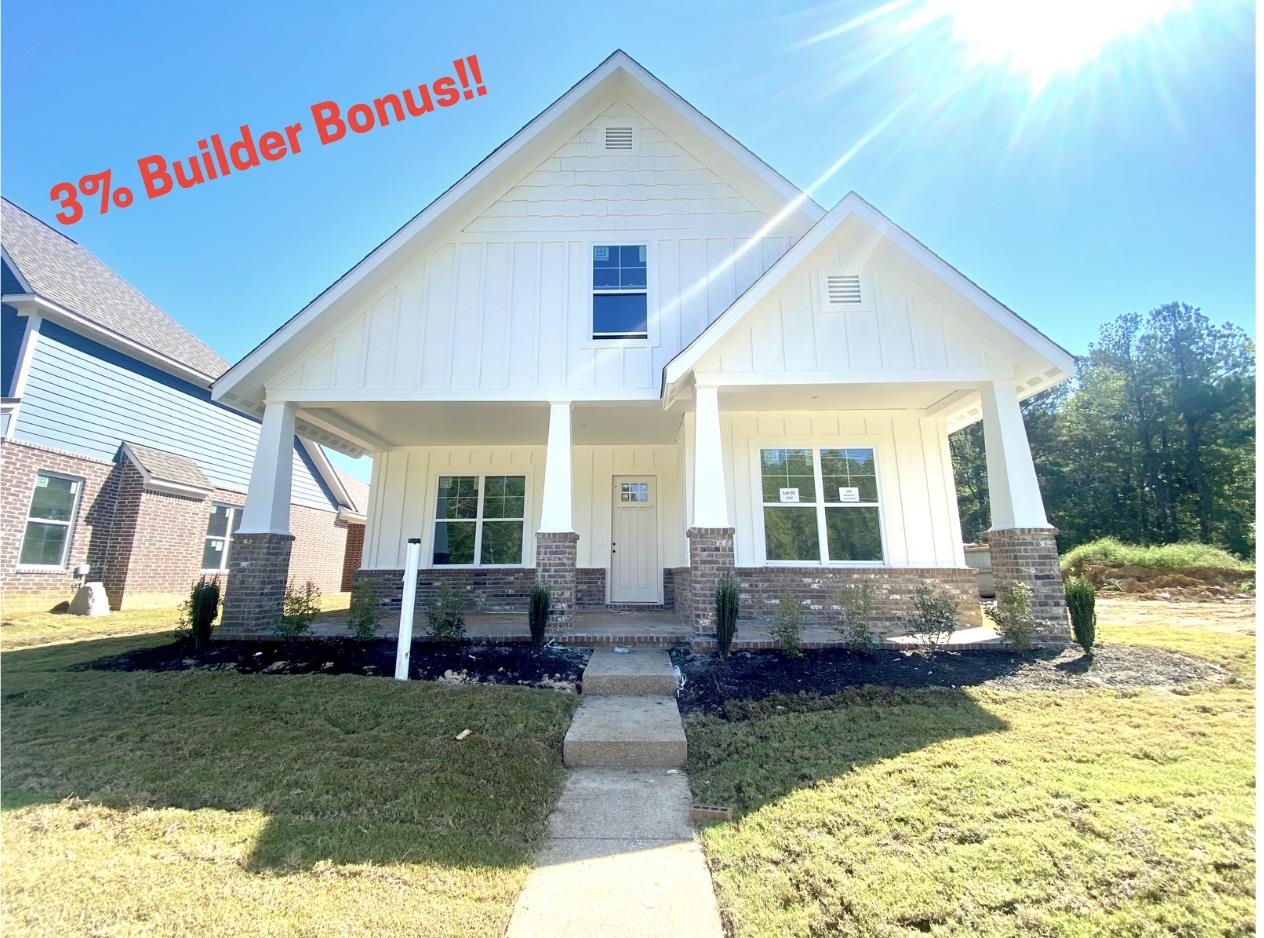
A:
<svg viewBox="0 0 1264 938">
<path fill-rule="evenodd" d="M 293 535 L 233 535 L 228 592 L 216 638 L 267 638 L 281 614 Z"/>
</svg>

